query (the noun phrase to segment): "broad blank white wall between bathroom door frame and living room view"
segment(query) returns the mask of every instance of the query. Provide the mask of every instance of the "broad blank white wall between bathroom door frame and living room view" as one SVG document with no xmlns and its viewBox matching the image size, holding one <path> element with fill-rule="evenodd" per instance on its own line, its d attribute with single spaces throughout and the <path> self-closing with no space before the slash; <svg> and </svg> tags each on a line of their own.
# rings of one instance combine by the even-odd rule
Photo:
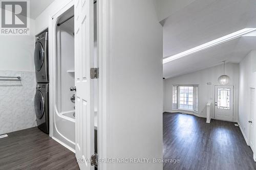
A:
<svg viewBox="0 0 256 170">
<path fill-rule="evenodd" d="M 113 1 L 106 124 L 108 158 L 162 158 L 162 27 L 152 1 Z M 162 163 L 107 164 L 160 170 Z"/>
</svg>

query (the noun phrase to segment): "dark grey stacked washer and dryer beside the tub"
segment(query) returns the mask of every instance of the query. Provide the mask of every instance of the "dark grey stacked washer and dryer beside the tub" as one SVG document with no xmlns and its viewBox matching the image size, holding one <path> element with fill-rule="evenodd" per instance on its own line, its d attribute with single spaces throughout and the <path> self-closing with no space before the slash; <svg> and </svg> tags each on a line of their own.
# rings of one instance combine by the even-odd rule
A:
<svg viewBox="0 0 256 170">
<path fill-rule="evenodd" d="M 37 127 L 49 134 L 48 31 L 36 37 L 34 61 L 36 75 L 35 114 Z"/>
</svg>

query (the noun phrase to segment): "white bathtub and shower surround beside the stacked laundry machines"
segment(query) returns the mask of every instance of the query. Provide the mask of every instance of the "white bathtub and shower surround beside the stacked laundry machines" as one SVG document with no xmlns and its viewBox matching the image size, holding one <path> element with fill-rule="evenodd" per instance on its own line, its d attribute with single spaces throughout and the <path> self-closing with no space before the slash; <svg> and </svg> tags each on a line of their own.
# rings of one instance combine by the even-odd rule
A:
<svg viewBox="0 0 256 170">
<path fill-rule="evenodd" d="M 74 7 L 57 19 L 52 137 L 75 152 Z"/>
</svg>

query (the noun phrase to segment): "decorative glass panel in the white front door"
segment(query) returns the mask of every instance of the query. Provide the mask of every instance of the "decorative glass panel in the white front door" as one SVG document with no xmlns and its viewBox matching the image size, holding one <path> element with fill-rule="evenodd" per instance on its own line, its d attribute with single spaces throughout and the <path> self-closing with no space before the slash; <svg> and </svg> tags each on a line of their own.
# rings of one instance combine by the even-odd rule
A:
<svg viewBox="0 0 256 170">
<path fill-rule="evenodd" d="M 230 110 L 230 88 L 218 88 L 218 109 Z"/>
</svg>

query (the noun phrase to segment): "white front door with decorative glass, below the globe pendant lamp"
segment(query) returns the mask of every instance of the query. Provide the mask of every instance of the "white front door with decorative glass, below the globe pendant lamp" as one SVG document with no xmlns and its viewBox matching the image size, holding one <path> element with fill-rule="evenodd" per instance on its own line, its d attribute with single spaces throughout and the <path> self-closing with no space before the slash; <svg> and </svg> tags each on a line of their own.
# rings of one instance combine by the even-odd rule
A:
<svg viewBox="0 0 256 170">
<path fill-rule="evenodd" d="M 215 86 L 215 119 L 233 122 L 233 92 L 233 86 Z"/>
</svg>

